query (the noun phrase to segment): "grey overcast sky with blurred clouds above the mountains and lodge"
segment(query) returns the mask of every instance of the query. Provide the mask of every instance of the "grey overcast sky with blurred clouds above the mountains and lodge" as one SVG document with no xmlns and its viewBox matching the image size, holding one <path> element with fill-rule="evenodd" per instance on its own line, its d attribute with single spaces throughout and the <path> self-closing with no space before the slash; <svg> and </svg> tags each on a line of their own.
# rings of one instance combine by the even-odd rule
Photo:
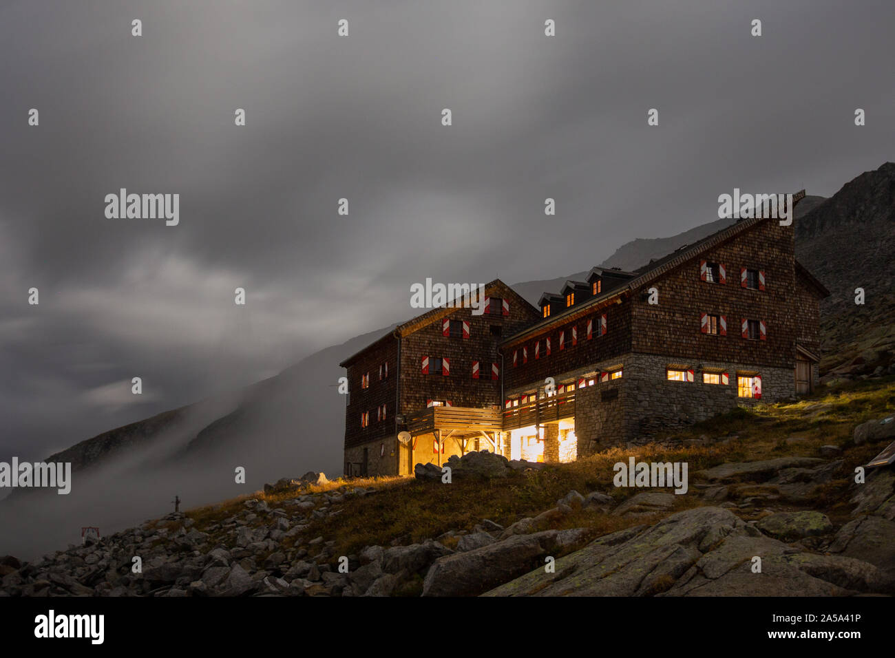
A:
<svg viewBox="0 0 895 658">
<path fill-rule="evenodd" d="M 0 457 L 405 320 L 427 277 L 563 276 L 893 159 L 895 3 L 746 5 L 5 0 Z M 180 224 L 106 218 L 122 187 Z"/>
</svg>

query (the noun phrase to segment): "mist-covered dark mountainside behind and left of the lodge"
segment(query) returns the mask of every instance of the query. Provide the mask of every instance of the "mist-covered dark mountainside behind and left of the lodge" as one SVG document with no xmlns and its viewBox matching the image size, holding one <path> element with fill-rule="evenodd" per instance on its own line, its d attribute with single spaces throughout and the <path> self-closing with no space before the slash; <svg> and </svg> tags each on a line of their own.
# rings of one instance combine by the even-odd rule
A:
<svg viewBox="0 0 895 658">
<path fill-rule="evenodd" d="M 68 495 L 16 490 L 0 501 L 0 555 L 35 560 L 80 543 L 82 526 L 98 526 L 103 536 L 139 526 L 173 511 L 175 495 L 183 511 L 311 470 L 341 475 L 345 396 L 337 385 L 345 370 L 338 363 L 387 330 L 322 350 L 237 395 L 186 407 L 174 428 L 76 470 Z M 244 484 L 234 482 L 237 466 Z"/>
</svg>

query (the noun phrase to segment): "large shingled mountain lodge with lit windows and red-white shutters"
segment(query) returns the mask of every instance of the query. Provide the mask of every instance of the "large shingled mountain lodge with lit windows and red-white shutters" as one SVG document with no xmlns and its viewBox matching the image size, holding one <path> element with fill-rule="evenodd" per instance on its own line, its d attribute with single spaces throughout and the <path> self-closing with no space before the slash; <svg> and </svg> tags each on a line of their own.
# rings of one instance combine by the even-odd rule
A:
<svg viewBox="0 0 895 658">
<path fill-rule="evenodd" d="M 594 268 L 540 309 L 499 280 L 486 290 L 506 304 L 423 313 L 342 363 L 345 474 L 409 474 L 470 449 L 568 461 L 817 382 L 829 292 L 777 219 L 634 272 Z"/>
</svg>

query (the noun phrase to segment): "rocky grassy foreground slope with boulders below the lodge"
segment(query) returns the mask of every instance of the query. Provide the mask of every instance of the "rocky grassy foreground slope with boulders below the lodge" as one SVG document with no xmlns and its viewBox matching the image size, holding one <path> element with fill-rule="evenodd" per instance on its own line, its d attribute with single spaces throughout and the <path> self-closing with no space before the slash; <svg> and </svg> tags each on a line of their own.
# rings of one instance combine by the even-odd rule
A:
<svg viewBox="0 0 895 658">
<path fill-rule="evenodd" d="M 701 428 L 712 433 L 672 438 L 686 450 L 655 456 L 690 455 L 684 495 L 613 488 L 623 450 L 557 466 L 469 453 L 449 462 L 449 485 L 425 468 L 369 483 L 311 473 L 35 563 L 0 558 L 0 595 L 895 594 L 895 470 L 853 481 L 854 466 L 895 440 L 895 422 L 881 423 L 895 382 L 882 389 L 732 414 Z M 536 498 L 570 483 L 598 489 L 546 507 Z"/>
</svg>

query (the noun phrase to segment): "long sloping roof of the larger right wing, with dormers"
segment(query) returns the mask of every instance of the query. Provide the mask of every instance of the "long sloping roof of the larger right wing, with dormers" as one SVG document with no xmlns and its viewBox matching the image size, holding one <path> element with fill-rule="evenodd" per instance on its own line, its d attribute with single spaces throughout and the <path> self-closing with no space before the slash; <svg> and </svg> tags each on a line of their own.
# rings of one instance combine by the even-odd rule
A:
<svg viewBox="0 0 895 658">
<path fill-rule="evenodd" d="M 802 200 L 805 197 L 805 190 L 801 192 L 797 192 L 793 194 L 793 207 L 795 208 L 796 203 Z M 566 311 L 557 313 L 556 315 L 552 315 L 549 318 L 545 318 L 540 322 L 535 322 L 532 326 L 523 329 L 522 331 L 517 332 L 514 336 L 508 337 L 506 340 L 500 343 L 501 346 L 511 345 L 516 343 L 517 341 L 522 340 L 526 336 L 529 336 L 533 333 L 537 333 L 553 324 L 562 324 L 563 322 L 567 322 L 569 320 L 573 320 L 579 316 L 586 314 L 587 312 L 596 311 L 597 309 L 602 308 L 603 306 L 609 305 L 609 303 L 620 303 L 620 297 L 630 295 L 638 288 L 645 286 L 646 284 L 652 283 L 652 281 L 661 278 L 665 274 L 669 273 L 672 269 L 678 268 L 680 265 L 683 265 L 686 261 L 690 261 L 698 256 L 702 252 L 707 252 L 720 244 L 729 242 L 733 238 L 737 237 L 742 233 L 758 226 L 763 221 L 767 221 L 771 219 L 770 217 L 756 217 L 749 219 L 741 219 L 737 221 L 736 224 L 731 224 L 726 228 L 720 229 L 720 231 L 716 231 L 712 235 L 707 235 L 702 240 L 695 242 L 691 245 L 685 245 L 683 248 L 678 248 L 677 251 L 671 252 L 666 256 L 663 256 L 661 259 L 657 261 L 650 261 L 644 267 L 638 268 L 635 270 L 635 277 L 630 278 L 629 280 L 622 282 L 621 286 L 616 286 L 611 290 L 604 292 L 602 295 L 595 295 L 591 299 L 587 300 L 581 304 L 575 304 L 571 308 Z M 801 267 L 801 266 L 799 266 Z M 804 268 L 802 268 L 804 269 Z M 593 270 L 591 270 L 593 271 Z M 619 270 L 604 270 L 604 271 L 615 271 Z M 807 270 L 805 270 L 807 272 Z M 815 279 L 816 280 L 816 279 Z M 819 283 L 819 282 L 818 282 Z M 823 287 L 823 286 L 822 286 Z M 826 288 L 823 288 L 826 290 Z M 827 293 L 829 295 L 829 293 Z"/>
</svg>

